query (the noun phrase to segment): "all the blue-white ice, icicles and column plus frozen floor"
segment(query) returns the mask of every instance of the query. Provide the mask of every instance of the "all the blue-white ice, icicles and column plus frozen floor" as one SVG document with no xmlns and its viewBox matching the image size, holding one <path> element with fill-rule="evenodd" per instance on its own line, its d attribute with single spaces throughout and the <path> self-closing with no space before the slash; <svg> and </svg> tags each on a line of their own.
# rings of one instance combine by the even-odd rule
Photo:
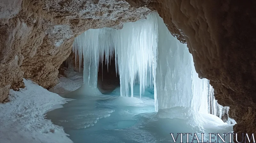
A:
<svg viewBox="0 0 256 143">
<path fill-rule="evenodd" d="M 74 41 L 73 55 L 75 61 L 66 62 L 83 71 L 84 85 L 64 95 L 76 100 L 46 117 L 63 126 L 74 142 L 173 142 L 170 133 L 233 131 L 236 122 L 221 120 L 223 108 L 209 81 L 198 78 L 187 45 L 170 34 L 155 12 L 120 30 L 85 31 Z M 104 82 L 108 72 L 101 78 L 98 72 L 108 66 L 115 67 L 120 84 L 101 94 L 97 82 Z"/>
</svg>

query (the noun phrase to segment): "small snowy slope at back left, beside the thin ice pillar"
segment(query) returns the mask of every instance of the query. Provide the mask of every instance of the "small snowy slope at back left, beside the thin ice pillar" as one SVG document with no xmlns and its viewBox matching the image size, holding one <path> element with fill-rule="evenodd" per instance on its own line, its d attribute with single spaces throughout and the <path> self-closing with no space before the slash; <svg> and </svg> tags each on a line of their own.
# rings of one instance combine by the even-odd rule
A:
<svg viewBox="0 0 256 143">
<path fill-rule="evenodd" d="M 69 68 L 64 73 L 66 77 L 60 77 L 60 83 L 49 89 L 49 91 L 60 95 L 75 91 L 84 84 L 83 68 L 80 71 L 79 69 Z"/>
</svg>

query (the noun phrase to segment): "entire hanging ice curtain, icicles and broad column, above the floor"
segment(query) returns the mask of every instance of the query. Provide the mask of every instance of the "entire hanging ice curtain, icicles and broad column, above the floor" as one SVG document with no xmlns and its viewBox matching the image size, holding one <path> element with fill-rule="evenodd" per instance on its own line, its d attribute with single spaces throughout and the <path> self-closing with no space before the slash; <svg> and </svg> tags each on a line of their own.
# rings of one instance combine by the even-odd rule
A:
<svg viewBox="0 0 256 143">
<path fill-rule="evenodd" d="M 84 83 L 94 88 L 99 61 L 105 58 L 108 64 L 108 57 L 115 55 L 121 96 L 128 96 L 131 88 L 133 97 L 138 81 L 140 95 L 147 86 L 154 88 L 156 111 L 182 106 L 216 116 L 222 113 L 209 81 L 198 78 L 187 45 L 170 34 L 157 13 L 126 23 L 121 30 L 89 29 L 76 37 L 73 52 L 80 65 L 84 58 Z"/>
</svg>

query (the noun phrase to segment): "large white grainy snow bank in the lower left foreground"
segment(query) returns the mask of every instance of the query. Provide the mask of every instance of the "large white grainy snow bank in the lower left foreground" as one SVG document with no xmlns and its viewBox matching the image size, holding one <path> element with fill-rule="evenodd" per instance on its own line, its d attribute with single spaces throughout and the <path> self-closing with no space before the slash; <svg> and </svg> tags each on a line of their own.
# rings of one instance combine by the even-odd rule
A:
<svg viewBox="0 0 256 143">
<path fill-rule="evenodd" d="M 0 143 L 72 143 L 62 127 L 44 119 L 46 112 L 66 103 L 65 98 L 23 81 L 26 87 L 10 90 L 11 101 L 0 104 Z"/>
</svg>

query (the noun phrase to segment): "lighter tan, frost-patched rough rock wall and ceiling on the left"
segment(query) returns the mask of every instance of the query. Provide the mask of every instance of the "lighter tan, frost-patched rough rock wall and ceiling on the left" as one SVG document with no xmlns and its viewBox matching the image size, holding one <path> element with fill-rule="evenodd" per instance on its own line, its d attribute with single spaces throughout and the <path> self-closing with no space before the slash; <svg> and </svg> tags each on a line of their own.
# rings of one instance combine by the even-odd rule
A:
<svg viewBox="0 0 256 143">
<path fill-rule="evenodd" d="M 75 36 L 90 28 L 122 28 L 144 19 L 148 8 L 119 0 L 2 0 L 0 2 L 0 102 L 22 78 L 56 85 L 60 64 Z"/>
</svg>

